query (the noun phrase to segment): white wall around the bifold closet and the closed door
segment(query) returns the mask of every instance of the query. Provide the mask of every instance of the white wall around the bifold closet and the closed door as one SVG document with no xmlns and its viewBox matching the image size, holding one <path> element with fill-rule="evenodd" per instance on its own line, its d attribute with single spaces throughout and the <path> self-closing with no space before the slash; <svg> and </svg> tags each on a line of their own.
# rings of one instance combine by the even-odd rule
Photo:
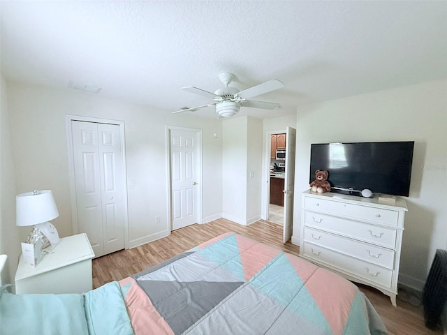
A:
<svg viewBox="0 0 447 335">
<path fill-rule="evenodd" d="M 128 186 L 131 246 L 156 239 L 168 229 L 167 124 L 203 130 L 203 216 L 220 216 L 221 139 L 213 138 L 214 132 L 221 132 L 219 120 L 18 83 L 8 83 L 8 106 L 17 193 L 52 189 L 60 214 L 52 223 L 61 237 L 72 234 L 66 114 L 124 121 L 126 170 L 135 184 Z M 161 216 L 159 224 L 156 216 Z"/>
</svg>

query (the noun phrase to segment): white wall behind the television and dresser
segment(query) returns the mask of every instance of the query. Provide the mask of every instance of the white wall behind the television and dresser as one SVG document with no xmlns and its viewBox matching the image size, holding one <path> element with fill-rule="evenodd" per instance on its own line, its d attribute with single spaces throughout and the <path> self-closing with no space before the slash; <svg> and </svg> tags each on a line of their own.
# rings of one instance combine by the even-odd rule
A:
<svg viewBox="0 0 447 335">
<path fill-rule="evenodd" d="M 310 144 L 414 140 L 399 281 L 422 290 L 437 248 L 447 246 L 447 81 L 298 107 L 295 191 L 309 188 Z M 300 234 L 295 197 L 293 235 Z"/>
</svg>

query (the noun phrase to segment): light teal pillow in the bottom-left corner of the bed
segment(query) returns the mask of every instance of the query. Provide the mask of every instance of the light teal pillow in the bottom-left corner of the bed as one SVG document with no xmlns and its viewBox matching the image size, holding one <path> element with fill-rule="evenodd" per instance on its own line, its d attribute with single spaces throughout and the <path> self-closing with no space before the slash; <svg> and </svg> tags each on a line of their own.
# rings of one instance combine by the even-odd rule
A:
<svg viewBox="0 0 447 335">
<path fill-rule="evenodd" d="M 89 333 L 82 295 L 13 295 L 1 291 L 2 335 Z"/>
</svg>

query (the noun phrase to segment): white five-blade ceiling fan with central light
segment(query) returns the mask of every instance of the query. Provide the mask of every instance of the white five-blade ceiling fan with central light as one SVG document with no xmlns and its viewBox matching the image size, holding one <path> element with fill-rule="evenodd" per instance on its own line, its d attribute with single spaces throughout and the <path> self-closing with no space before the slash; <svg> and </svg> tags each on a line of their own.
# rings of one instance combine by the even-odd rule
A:
<svg viewBox="0 0 447 335">
<path fill-rule="evenodd" d="M 202 107 L 210 107 L 215 105 L 216 112 L 219 117 L 233 117 L 240 111 L 240 107 L 254 107 L 254 108 L 263 108 L 265 110 L 276 110 L 279 108 L 279 103 L 268 103 L 265 101 L 254 101 L 248 100 L 254 96 L 260 96 L 261 94 L 268 93 L 270 91 L 274 91 L 275 89 L 281 89 L 284 87 L 284 84 L 279 80 L 272 79 L 267 82 L 263 82 L 262 84 L 258 84 L 254 87 L 250 87 L 249 89 L 244 89 L 244 91 L 239 91 L 236 87 L 228 87 L 228 84 L 235 78 L 233 73 L 224 72 L 219 75 L 219 79 L 225 87 L 222 89 L 217 89 L 214 93 L 205 91 L 203 89 L 198 89 L 197 87 L 188 86 L 182 87 L 184 91 L 189 91 L 194 94 L 199 94 L 200 96 L 206 96 L 207 98 L 212 98 L 215 103 L 208 103 L 207 105 L 201 105 L 197 107 L 187 108 L 184 107 L 181 110 L 177 110 L 173 112 L 173 114 L 186 112 L 188 110 L 197 110 Z"/>
</svg>

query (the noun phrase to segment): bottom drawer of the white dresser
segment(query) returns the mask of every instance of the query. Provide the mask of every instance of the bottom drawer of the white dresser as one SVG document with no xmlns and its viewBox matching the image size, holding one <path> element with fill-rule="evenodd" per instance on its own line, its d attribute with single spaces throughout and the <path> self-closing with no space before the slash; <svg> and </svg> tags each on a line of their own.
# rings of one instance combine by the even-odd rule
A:
<svg viewBox="0 0 447 335">
<path fill-rule="evenodd" d="M 385 288 L 391 288 L 393 270 L 378 267 L 369 262 L 342 255 L 341 253 L 322 248 L 321 246 L 311 244 L 307 241 L 304 242 L 302 248 L 304 249 L 303 255 L 318 263 L 328 265 L 329 267 L 336 267 L 353 276 L 363 278 L 369 283 L 378 284 Z"/>
</svg>

